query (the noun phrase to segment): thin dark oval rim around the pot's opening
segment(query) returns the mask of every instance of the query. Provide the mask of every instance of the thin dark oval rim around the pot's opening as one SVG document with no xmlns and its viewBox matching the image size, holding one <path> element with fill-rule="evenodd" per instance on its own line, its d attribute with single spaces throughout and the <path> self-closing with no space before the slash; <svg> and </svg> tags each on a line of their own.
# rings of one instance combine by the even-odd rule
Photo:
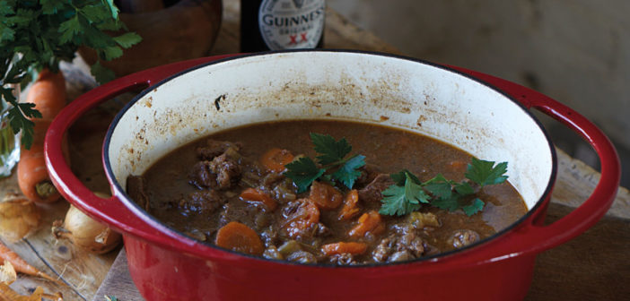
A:
<svg viewBox="0 0 630 301">
<path fill-rule="evenodd" d="M 494 90 L 498 93 L 500 93 L 501 95 L 503 95 L 504 98 L 509 99 L 510 101 L 512 101 L 512 103 L 516 104 L 518 107 L 521 108 L 521 110 L 527 115 L 529 116 L 530 119 L 532 119 L 532 121 L 534 121 L 535 125 L 538 126 L 538 130 L 541 131 L 541 133 L 543 133 L 543 135 L 545 136 L 545 139 L 547 140 L 547 146 L 551 152 L 551 164 L 552 164 L 552 170 L 549 176 L 549 180 L 547 181 L 547 186 L 544 190 L 544 192 L 541 194 L 541 196 L 538 198 L 538 201 L 535 203 L 535 205 L 531 208 L 529 208 L 529 210 L 527 211 L 527 213 L 525 213 L 523 216 L 521 216 L 521 218 L 517 219 L 516 221 L 512 222 L 512 224 L 506 228 L 503 228 L 500 231 L 497 231 L 494 235 L 492 236 L 488 236 L 485 239 L 481 239 L 478 242 L 471 244 L 471 245 L 467 245 L 465 247 L 459 248 L 459 249 L 454 249 L 451 251 L 447 251 L 447 252 L 442 252 L 439 254 L 433 254 L 433 255 L 429 255 L 429 256 L 424 256 L 424 257 L 420 257 L 420 258 L 416 258 L 414 260 L 410 260 L 410 261 L 405 261 L 405 262 L 380 262 L 380 263 L 367 263 L 367 264 L 357 264 L 357 265 L 343 265 L 343 266 L 338 266 L 338 265 L 334 265 L 334 264 L 327 264 L 327 263 L 298 263 L 298 262 L 288 262 L 288 261 L 284 261 L 284 260 L 278 260 L 278 259 L 268 259 L 268 258 L 264 258 L 261 256 L 255 256 L 255 255 L 250 255 L 250 254 L 242 254 L 239 252 L 235 252 L 232 250 L 228 250 L 225 248 L 222 248 L 220 246 L 214 245 L 212 243 L 209 242 L 204 242 L 204 241 L 199 241 L 197 239 L 194 239 L 190 236 L 186 236 L 184 233 L 180 232 L 179 230 L 175 229 L 175 228 L 171 228 L 170 226 L 166 225 L 165 223 L 163 223 L 161 220 L 156 219 L 155 217 L 153 217 L 153 215 L 149 214 L 147 211 L 144 211 L 143 208 L 141 208 L 136 202 L 134 202 L 129 195 L 127 194 L 126 190 L 124 190 L 122 188 L 122 185 L 120 185 L 118 183 L 118 181 L 116 180 L 116 177 L 114 176 L 113 173 L 113 169 L 111 168 L 111 162 L 109 159 L 109 142 L 111 140 L 111 136 L 114 132 L 114 129 L 117 127 L 118 122 L 120 121 L 120 119 L 122 118 L 122 116 L 124 116 L 127 112 L 127 110 L 130 107 L 133 107 L 136 102 L 140 99 L 142 99 L 144 97 L 144 95 L 146 95 L 147 93 L 151 92 L 152 90 L 155 90 L 156 88 L 160 87 L 162 84 L 166 83 L 166 82 L 170 82 L 172 79 L 177 78 L 181 75 L 184 75 L 186 73 L 192 72 L 194 70 L 197 70 L 199 68 L 204 68 L 206 66 L 209 65 L 213 65 L 213 64 L 221 64 L 223 62 L 226 61 L 231 61 L 231 60 L 235 60 L 235 59 L 240 59 L 240 58 L 244 58 L 244 57 L 251 57 L 251 56 L 268 56 L 268 55 L 276 55 L 276 54 L 286 54 L 286 53 L 304 53 L 304 52 L 317 52 L 317 53 L 348 53 L 348 54 L 356 54 L 356 55 L 368 55 L 368 56 L 385 56 L 385 57 L 390 57 L 390 58 L 396 58 L 396 59 L 402 59 L 402 60 L 406 60 L 406 61 L 410 61 L 416 64 L 425 64 L 425 65 L 429 65 L 432 66 L 434 68 L 438 68 L 438 69 L 442 69 L 444 71 L 447 72 L 451 72 L 451 73 L 455 73 L 459 76 L 463 76 L 465 78 L 467 78 L 468 80 L 477 82 L 478 84 L 484 85 L 487 88 Z M 456 146 L 457 147 L 457 146 Z M 363 51 L 363 50 L 347 50 L 347 49 L 289 49 L 289 50 L 278 50 L 278 51 L 265 51 L 265 52 L 258 52 L 258 53 L 253 53 L 253 54 L 242 54 L 242 55 L 237 55 L 237 56 L 230 56 L 230 57 L 225 57 L 225 58 L 221 58 L 218 60 L 214 60 L 212 62 L 208 62 L 208 63 L 204 63 L 204 64 L 197 64 L 196 66 L 190 67 L 186 70 L 180 71 L 178 73 L 173 73 L 170 76 L 166 77 L 165 79 L 163 79 L 160 82 L 157 82 L 149 87 L 147 87 L 146 89 L 144 89 L 143 91 L 141 91 L 138 95 L 136 95 L 136 97 L 134 97 L 132 100 L 130 100 L 125 107 L 121 108 L 120 111 L 118 111 L 118 114 L 114 117 L 114 119 L 112 120 L 111 124 L 109 125 L 108 131 L 106 133 L 105 136 L 105 140 L 103 142 L 103 148 L 102 148 L 102 161 L 104 164 L 104 168 L 105 168 L 105 173 L 106 176 L 109 179 L 109 185 L 112 186 L 112 188 L 117 192 L 116 195 L 119 196 L 118 199 L 120 200 L 120 202 L 123 202 L 123 204 L 125 206 L 127 206 L 127 208 L 129 208 L 131 211 L 136 212 L 136 218 L 142 219 L 145 222 L 147 222 L 147 224 L 152 225 L 152 228 L 154 228 L 155 230 L 159 231 L 162 235 L 167 235 L 167 236 L 175 236 L 177 237 L 177 239 L 179 240 L 179 242 L 181 242 L 182 244 L 187 244 L 187 243 L 193 243 L 193 244 L 197 244 L 197 245 L 204 245 L 205 247 L 209 247 L 214 249 L 215 251 L 218 252 L 225 252 L 228 254 L 232 254 L 232 255 L 237 255 L 237 256 L 242 256 L 242 259 L 249 259 L 249 260 L 255 260 L 255 261 L 260 261 L 260 262 L 267 262 L 267 263 L 281 263 L 281 264 L 285 264 L 285 265 L 290 265 L 290 266 L 300 266 L 300 267 L 317 267 L 317 268 L 334 268 L 334 269 L 339 269 L 339 268 L 350 268 L 350 269 L 360 269 L 360 268 L 374 268 L 374 267 L 379 267 L 379 268 L 386 268 L 386 267 L 396 267 L 396 266 L 401 266 L 401 265 L 405 265 L 405 264 L 418 264 L 418 263 L 422 263 L 422 262 L 444 262 L 447 258 L 451 258 L 455 255 L 459 255 L 459 254 L 468 254 L 469 252 L 475 252 L 477 248 L 477 246 L 481 246 L 481 245 L 485 245 L 485 246 L 489 246 L 492 245 L 493 243 L 497 242 L 500 240 L 500 238 L 504 237 L 504 236 L 508 236 L 509 232 L 512 232 L 514 229 L 516 228 L 520 228 L 521 226 L 524 226 L 524 222 L 527 219 L 531 219 L 534 218 L 535 215 L 538 213 L 538 211 L 543 207 L 543 205 L 547 202 L 549 202 L 550 200 L 550 196 L 551 196 L 551 191 L 553 189 L 554 183 L 556 182 L 556 174 L 557 174 L 557 155 L 556 155 L 556 148 L 554 147 L 553 142 L 551 142 L 551 139 L 547 133 L 547 130 L 545 129 L 545 127 L 541 124 L 541 122 L 538 120 L 538 118 L 536 116 L 534 116 L 527 107 L 525 107 L 520 101 L 518 101 L 517 99 L 513 98 L 511 95 L 507 94 L 505 91 L 498 89 L 497 87 L 495 87 L 494 85 L 485 82 L 473 75 L 470 75 L 468 73 L 463 73 L 455 68 L 452 68 L 451 66 L 448 65 L 443 65 L 443 64 L 436 64 L 436 63 L 432 63 L 429 61 L 425 61 L 423 59 L 418 59 L 418 58 L 413 58 L 413 57 L 408 57 L 408 56 L 399 56 L 399 55 L 393 55 L 393 54 L 386 54 L 386 53 L 380 53 L 380 52 L 373 52 L 373 51 Z M 137 213 L 140 214 L 137 214 Z M 159 225 L 160 227 L 154 227 L 154 225 Z M 165 233 L 164 230 L 167 231 L 171 231 L 171 233 Z M 135 235 L 134 235 L 135 236 Z M 141 236 L 138 236 L 139 238 L 144 238 Z M 163 245 L 166 247 L 170 247 L 173 249 L 177 249 L 177 246 L 173 246 L 173 245 L 166 245 L 163 244 L 162 242 L 155 242 L 153 240 L 149 240 L 152 244 L 158 244 L 158 245 Z M 188 241 L 188 242 L 187 242 Z"/>
</svg>

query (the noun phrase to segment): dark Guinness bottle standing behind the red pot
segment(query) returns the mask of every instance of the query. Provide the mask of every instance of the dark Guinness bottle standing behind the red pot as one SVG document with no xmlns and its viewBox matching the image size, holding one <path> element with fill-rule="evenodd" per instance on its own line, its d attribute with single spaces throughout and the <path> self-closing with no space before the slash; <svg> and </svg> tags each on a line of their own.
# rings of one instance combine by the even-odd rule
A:
<svg viewBox="0 0 630 301">
<path fill-rule="evenodd" d="M 241 0 L 241 52 L 322 47 L 325 0 Z"/>
</svg>

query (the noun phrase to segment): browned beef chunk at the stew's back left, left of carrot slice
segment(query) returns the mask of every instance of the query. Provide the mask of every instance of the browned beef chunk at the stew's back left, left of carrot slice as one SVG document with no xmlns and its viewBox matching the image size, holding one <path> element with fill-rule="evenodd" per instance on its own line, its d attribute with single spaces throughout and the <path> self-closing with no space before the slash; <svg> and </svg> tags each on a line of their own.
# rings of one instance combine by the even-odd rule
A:
<svg viewBox="0 0 630 301">
<path fill-rule="evenodd" d="M 190 171 L 190 184 L 199 189 L 212 188 L 227 190 L 241 179 L 239 153 L 230 148 L 211 161 L 197 162 Z"/>
</svg>

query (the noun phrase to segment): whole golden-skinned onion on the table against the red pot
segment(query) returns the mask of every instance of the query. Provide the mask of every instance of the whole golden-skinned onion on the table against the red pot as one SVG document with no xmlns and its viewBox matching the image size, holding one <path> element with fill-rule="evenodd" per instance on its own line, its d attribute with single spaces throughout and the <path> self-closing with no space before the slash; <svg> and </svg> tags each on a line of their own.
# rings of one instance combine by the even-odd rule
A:
<svg viewBox="0 0 630 301">
<path fill-rule="evenodd" d="M 73 245 L 92 254 L 105 254 L 115 248 L 121 240 L 118 232 L 88 217 L 70 205 L 66 219 L 53 223 L 53 236 L 69 239 Z"/>
</svg>

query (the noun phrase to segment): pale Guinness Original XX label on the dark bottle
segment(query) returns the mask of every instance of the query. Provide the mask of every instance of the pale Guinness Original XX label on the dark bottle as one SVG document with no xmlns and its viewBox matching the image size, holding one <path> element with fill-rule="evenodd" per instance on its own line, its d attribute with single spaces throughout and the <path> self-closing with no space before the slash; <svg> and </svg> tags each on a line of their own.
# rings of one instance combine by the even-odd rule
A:
<svg viewBox="0 0 630 301">
<path fill-rule="evenodd" d="M 258 27 L 271 50 L 314 48 L 321 39 L 325 0 L 263 0 Z"/>
</svg>

